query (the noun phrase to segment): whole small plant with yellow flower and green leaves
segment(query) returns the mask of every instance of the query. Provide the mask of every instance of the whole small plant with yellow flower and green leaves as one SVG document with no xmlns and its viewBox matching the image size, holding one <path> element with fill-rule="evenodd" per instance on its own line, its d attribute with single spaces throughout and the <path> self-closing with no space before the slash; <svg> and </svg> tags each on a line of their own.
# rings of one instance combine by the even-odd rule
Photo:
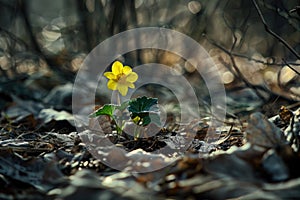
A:
<svg viewBox="0 0 300 200">
<path fill-rule="evenodd" d="M 110 90 L 118 90 L 118 95 L 125 96 L 128 88 L 135 88 L 134 82 L 137 81 L 138 75 L 132 71 L 131 67 L 123 66 L 120 61 L 115 61 L 112 65 L 111 72 L 105 72 L 104 76 L 108 78 L 107 88 Z M 105 104 L 101 108 L 94 111 L 90 117 L 98 117 L 100 115 L 109 116 L 116 124 L 117 133 L 121 134 L 126 121 L 129 120 L 129 112 L 131 120 L 138 126 L 145 127 L 150 123 L 160 125 L 160 111 L 158 107 L 158 99 L 152 97 L 138 97 L 129 101 L 120 102 L 118 96 L 117 104 Z M 135 138 L 140 133 L 134 132 Z"/>
</svg>

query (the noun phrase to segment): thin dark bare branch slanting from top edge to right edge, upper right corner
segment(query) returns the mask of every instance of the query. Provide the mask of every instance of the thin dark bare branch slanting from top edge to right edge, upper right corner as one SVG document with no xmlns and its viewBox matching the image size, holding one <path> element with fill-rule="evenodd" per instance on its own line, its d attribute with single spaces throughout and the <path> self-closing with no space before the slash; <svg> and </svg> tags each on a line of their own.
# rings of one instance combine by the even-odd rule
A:
<svg viewBox="0 0 300 200">
<path fill-rule="evenodd" d="M 267 24 L 267 22 L 266 22 L 266 20 L 265 20 L 265 18 L 263 16 L 263 14 L 262 14 L 262 12 L 261 12 L 261 10 L 260 10 L 257 2 L 255 0 L 252 0 L 252 2 L 254 4 L 254 6 L 255 6 L 255 9 L 256 9 L 256 11 L 257 11 L 257 13 L 258 13 L 258 15 L 259 15 L 262 23 L 264 24 L 265 30 L 268 33 L 270 33 L 273 37 L 275 37 L 277 40 L 279 40 L 286 48 L 288 48 L 292 52 L 292 54 L 294 54 L 294 56 L 297 57 L 297 59 L 300 59 L 300 55 L 295 51 L 295 49 L 293 49 L 282 37 L 280 37 L 277 33 L 273 32 L 269 28 L 269 26 L 268 26 L 268 24 Z"/>
</svg>

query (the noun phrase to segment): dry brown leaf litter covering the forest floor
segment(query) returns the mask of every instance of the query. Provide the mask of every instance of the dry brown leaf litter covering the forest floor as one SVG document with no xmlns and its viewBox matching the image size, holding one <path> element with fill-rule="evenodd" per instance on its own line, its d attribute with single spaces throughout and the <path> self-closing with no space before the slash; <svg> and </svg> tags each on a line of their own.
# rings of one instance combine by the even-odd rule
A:
<svg viewBox="0 0 300 200">
<path fill-rule="evenodd" d="M 32 89 L 14 88 L 15 93 L 0 91 L 1 199 L 300 198 L 300 108 L 282 107 L 272 118 L 253 113 L 242 123 L 231 120 L 223 127 L 209 127 L 204 119 L 183 129 L 173 124 L 135 139 L 117 134 L 116 124 L 103 116 L 91 120 L 89 128 L 100 123 L 104 134 L 77 133 L 67 105 L 69 84 L 41 99 Z M 219 133 L 213 143 L 205 141 L 208 128 Z M 179 158 L 151 154 L 166 146 L 178 149 L 189 129 L 196 135 Z M 120 147 L 98 146 L 97 153 L 126 170 L 96 159 L 84 137 L 105 137 Z M 156 166 L 149 165 L 150 158 Z M 141 168 L 148 173 L 132 173 Z"/>
</svg>

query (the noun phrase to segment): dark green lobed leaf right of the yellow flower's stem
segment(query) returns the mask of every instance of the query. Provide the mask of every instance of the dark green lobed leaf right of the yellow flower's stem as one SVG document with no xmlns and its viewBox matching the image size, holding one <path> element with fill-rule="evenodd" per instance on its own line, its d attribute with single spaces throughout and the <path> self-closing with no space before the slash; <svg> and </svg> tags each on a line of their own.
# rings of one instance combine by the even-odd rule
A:
<svg viewBox="0 0 300 200">
<path fill-rule="evenodd" d="M 131 118 L 140 117 L 142 125 L 156 123 L 160 125 L 159 108 L 157 98 L 139 97 L 129 102 L 128 110 L 131 112 Z"/>
</svg>

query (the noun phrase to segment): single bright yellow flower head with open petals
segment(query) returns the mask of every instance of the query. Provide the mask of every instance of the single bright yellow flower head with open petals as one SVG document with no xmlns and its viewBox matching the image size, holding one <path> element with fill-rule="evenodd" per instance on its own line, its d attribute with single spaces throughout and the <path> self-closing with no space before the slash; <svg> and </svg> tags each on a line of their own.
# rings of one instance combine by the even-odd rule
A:
<svg viewBox="0 0 300 200">
<path fill-rule="evenodd" d="M 109 79 L 108 89 L 118 90 L 122 96 L 127 94 L 128 87 L 135 87 L 133 83 L 138 79 L 138 75 L 129 66 L 123 66 L 120 61 L 115 61 L 111 72 L 105 72 L 104 76 Z"/>
</svg>

